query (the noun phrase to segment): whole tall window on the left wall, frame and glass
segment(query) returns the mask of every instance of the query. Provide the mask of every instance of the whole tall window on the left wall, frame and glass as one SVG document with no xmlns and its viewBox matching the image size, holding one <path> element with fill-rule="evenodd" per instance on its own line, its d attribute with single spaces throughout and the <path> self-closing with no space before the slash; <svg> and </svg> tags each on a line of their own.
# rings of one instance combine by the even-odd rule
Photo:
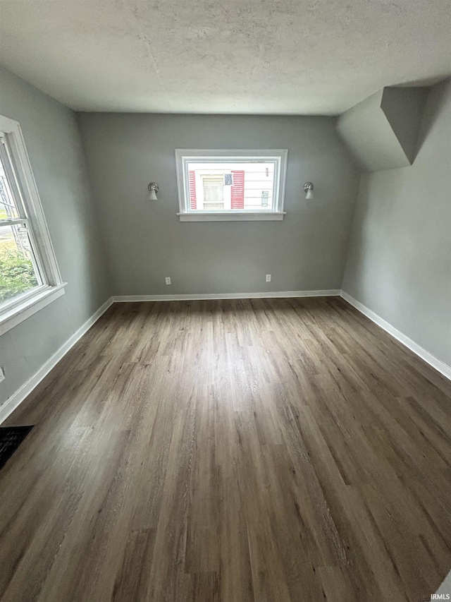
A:
<svg viewBox="0 0 451 602">
<path fill-rule="evenodd" d="M 63 286 L 20 126 L 0 116 L 0 335 Z"/>
</svg>

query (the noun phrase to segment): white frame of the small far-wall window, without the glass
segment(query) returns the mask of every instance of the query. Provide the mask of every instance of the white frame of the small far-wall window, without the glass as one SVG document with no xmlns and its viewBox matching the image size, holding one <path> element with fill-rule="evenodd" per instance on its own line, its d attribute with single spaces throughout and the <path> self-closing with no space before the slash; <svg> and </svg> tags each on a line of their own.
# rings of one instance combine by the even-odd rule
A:
<svg viewBox="0 0 451 602">
<path fill-rule="evenodd" d="M 276 161 L 274 173 L 273 210 L 233 209 L 221 211 L 192 210 L 190 204 L 190 182 L 187 164 L 221 162 L 261 162 L 272 159 Z M 286 212 L 285 181 L 287 176 L 288 150 L 284 149 L 175 149 L 175 166 L 177 169 L 177 187 L 180 222 L 240 222 L 240 221 L 280 221 Z"/>
</svg>

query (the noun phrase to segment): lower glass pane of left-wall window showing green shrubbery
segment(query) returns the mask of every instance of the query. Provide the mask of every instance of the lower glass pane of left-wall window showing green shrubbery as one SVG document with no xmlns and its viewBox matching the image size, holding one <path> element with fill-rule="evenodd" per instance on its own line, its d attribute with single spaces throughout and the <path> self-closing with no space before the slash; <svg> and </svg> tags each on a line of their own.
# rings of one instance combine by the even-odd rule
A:
<svg viewBox="0 0 451 602">
<path fill-rule="evenodd" d="M 25 226 L 0 227 L 0 303 L 39 286 L 41 280 Z"/>
</svg>

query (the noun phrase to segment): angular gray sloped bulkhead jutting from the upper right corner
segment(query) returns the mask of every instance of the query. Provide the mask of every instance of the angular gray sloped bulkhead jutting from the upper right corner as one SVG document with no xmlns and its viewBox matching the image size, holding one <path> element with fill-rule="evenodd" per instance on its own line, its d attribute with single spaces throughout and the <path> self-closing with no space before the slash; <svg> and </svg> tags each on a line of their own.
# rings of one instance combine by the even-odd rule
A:
<svg viewBox="0 0 451 602">
<path fill-rule="evenodd" d="M 337 129 L 364 171 L 414 162 L 427 88 L 382 88 L 338 118 Z"/>
</svg>

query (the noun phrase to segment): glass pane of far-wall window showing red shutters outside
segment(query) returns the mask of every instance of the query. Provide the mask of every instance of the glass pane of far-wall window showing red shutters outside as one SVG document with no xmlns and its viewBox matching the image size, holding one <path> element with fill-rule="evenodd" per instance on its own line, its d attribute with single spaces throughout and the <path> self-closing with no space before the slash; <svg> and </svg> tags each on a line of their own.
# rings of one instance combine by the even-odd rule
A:
<svg viewBox="0 0 451 602">
<path fill-rule="evenodd" d="M 187 162 L 193 211 L 274 210 L 276 163 Z"/>
</svg>

